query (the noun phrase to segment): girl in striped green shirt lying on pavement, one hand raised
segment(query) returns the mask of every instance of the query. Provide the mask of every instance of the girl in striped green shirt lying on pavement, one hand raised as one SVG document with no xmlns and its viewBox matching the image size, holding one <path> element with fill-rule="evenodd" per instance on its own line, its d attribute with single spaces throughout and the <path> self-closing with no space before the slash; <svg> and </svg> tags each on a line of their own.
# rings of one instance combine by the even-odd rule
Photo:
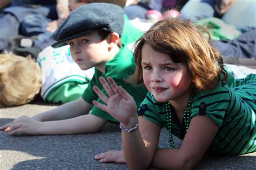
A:
<svg viewBox="0 0 256 170">
<path fill-rule="evenodd" d="M 107 95 L 94 101 L 120 122 L 123 151 L 96 155 L 124 162 L 132 169 L 192 169 L 205 152 L 238 155 L 255 152 L 256 75 L 232 80 L 223 58 L 202 32 L 186 20 L 156 23 L 135 46 L 132 80 L 149 93 L 137 107 L 111 77 L 100 77 Z M 160 129 L 170 134 L 170 148 L 158 148 Z M 183 143 L 176 148 L 173 135 Z M 167 140 L 167 139 L 166 139 Z M 124 160 L 125 159 L 125 160 Z"/>
</svg>

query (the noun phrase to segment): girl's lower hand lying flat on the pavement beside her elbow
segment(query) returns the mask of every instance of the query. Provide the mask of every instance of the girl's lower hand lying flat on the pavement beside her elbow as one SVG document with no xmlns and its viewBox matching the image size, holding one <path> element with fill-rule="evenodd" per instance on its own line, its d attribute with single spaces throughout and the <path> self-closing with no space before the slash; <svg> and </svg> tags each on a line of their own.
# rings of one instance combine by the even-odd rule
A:
<svg viewBox="0 0 256 170">
<path fill-rule="evenodd" d="M 124 159 L 123 150 L 121 151 L 107 151 L 104 153 L 100 153 L 95 155 L 95 159 L 99 160 L 99 162 L 116 162 L 119 164 L 125 164 L 126 161 Z"/>
</svg>

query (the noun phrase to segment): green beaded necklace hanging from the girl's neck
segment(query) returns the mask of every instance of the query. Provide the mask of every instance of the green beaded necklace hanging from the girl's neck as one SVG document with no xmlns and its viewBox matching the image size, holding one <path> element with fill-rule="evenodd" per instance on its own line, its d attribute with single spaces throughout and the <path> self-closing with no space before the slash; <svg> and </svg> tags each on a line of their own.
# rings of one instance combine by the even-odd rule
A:
<svg viewBox="0 0 256 170">
<path fill-rule="evenodd" d="M 183 121 L 185 124 L 186 132 L 188 129 L 188 125 L 190 124 L 190 105 L 193 100 L 193 97 L 190 98 L 190 101 L 187 104 L 187 108 L 184 112 Z M 171 113 L 171 104 L 166 102 L 165 104 L 165 112 L 166 112 L 166 120 L 167 120 L 167 130 L 169 131 L 169 143 L 170 148 L 175 147 L 173 137 L 172 137 L 172 113 Z"/>
</svg>

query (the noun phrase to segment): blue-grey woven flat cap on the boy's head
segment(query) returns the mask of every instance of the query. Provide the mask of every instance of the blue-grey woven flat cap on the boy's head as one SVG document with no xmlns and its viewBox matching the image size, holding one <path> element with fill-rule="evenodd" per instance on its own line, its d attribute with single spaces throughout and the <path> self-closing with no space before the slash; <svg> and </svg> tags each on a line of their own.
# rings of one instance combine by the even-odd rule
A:
<svg viewBox="0 0 256 170">
<path fill-rule="evenodd" d="M 120 6 L 109 3 L 91 3 L 72 11 L 52 34 L 56 40 L 52 47 L 67 45 L 66 41 L 80 37 L 91 30 L 116 32 L 122 36 L 124 11 Z"/>
</svg>

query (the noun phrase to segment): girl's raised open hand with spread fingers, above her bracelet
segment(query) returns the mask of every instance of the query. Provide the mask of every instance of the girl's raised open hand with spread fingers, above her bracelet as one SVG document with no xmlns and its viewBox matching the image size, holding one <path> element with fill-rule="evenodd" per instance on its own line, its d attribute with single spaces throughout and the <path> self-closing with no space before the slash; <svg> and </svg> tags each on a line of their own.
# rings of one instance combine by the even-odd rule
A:
<svg viewBox="0 0 256 170">
<path fill-rule="evenodd" d="M 122 86 L 117 86 L 111 77 L 107 77 L 107 80 L 110 86 L 103 77 L 99 77 L 99 81 L 102 83 L 108 96 L 104 95 L 98 87 L 93 87 L 95 93 L 106 105 L 97 101 L 93 101 L 93 104 L 99 109 L 108 112 L 122 125 L 133 124 L 134 126 L 137 121 L 137 106 L 133 97 Z"/>
</svg>

